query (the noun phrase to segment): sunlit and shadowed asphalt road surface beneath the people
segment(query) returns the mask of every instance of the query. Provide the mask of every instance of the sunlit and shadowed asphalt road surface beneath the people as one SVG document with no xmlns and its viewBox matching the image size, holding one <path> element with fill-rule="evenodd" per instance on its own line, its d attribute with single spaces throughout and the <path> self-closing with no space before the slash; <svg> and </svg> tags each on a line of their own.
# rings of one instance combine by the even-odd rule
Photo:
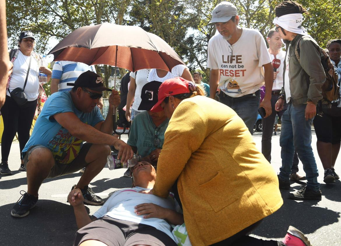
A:
<svg viewBox="0 0 341 246">
<path fill-rule="evenodd" d="M 278 132 L 280 133 L 280 132 Z M 262 133 L 253 135 L 261 149 Z M 127 140 L 126 137 L 122 137 Z M 288 191 L 282 192 L 283 206 L 274 214 L 265 218 L 262 224 L 252 231 L 252 235 L 263 239 L 283 239 L 289 225 L 306 233 L 314 246 L 341 245 L 341 182 L 326 185 L 323 182 L 323 167 L 316 151 L 316 136 L 313 131 L 313 150 L 320 172 L 321 201 L 295 201 L 288 198 Z M 341 157 L 336 163 L 336 172 L 341 175 Z M 279 134 L 272 137 L 272 166 L 279 172 L 281 166 Z M 73 209 L 66 197 L 73 184 L 81 176 L 74 173 L 59 178 L 47 179 L 39 190 L 39 200 L 30 214 L 24 218 L 14 218 L 10 212 L 20 198 L 20 191 L 27 191 L 26 173 L 18 171 L 20 166 L 19 144 L 13 142 L 9 157 L 12 176 L 0 175 L 0 245 L 72 245 L 77 230 Z M 300 172 L 302 164 L 299 164 Z M 131 179 L 124 178 L 125 170 L 109 170 L 105 167 L 92 180 L 90 187 L 102 198 L 108 198 L 113 192 L 131 187 Z M 305 182 L 292 183 L 291 191 L 299 189 Z M 89 214 L 99 207 L 86 206 Z M 214 232 L 214 228 L 210 228 Z"/>
</svg>

